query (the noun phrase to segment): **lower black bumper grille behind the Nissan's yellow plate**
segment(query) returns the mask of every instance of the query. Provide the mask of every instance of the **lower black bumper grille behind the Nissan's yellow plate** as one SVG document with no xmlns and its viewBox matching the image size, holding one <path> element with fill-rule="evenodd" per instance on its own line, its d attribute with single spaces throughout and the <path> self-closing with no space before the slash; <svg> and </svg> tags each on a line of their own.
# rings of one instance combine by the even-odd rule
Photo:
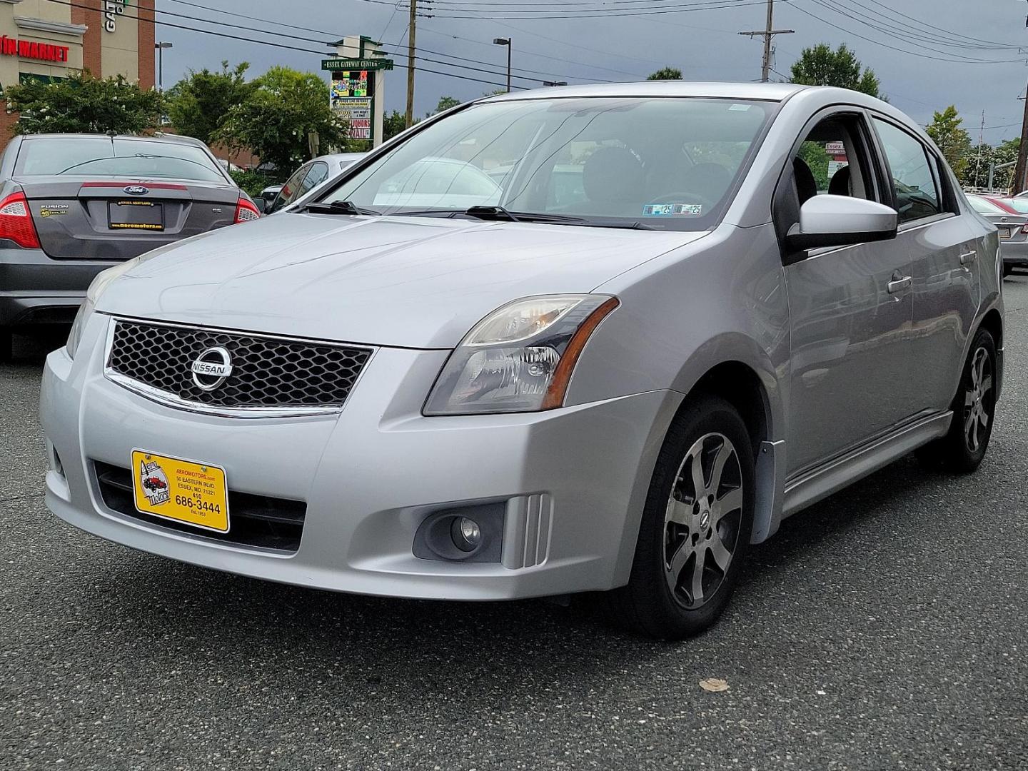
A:
<svg viewBox="0 0 1028 771">
<path fill-rule="evenodd" d="M 307 506 L 302 501 L 228 491 L 228 533 L 212 533 L 162 517 L 143 514 L 133 498 L 132 472 L 119 466 L 95 461 L 97 486 L 108 509 L 158 527 L 189 533 L 200 538 L 255 546 L 262 549 L 295 552 L 300 548 L 303 518 Z"/>
</svg>

